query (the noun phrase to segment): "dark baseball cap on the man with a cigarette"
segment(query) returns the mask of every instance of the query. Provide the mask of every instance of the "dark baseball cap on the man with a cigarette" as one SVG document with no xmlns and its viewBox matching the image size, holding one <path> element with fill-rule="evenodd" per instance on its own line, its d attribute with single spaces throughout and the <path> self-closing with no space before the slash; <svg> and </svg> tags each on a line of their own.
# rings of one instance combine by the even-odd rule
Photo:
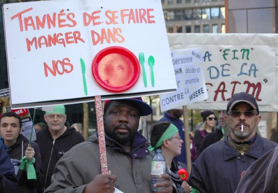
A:
<svg viewBox="0 0 278 193">
<path fill-rule="evenodd" d="M 249 104 L 259 114 L 259 107 L 258 107 L 255 97 L 246 92 L 236 93 L 232 96 L 232 98 L 230 99 L 230 101 L 227 105 L 227 111 L 226 111 L 227 114 L 228 114 L 228 111 L 232 110 L 232 107 L 234 107 L 237 103 L 240 103 L 240 102 Z"/>
</svg>

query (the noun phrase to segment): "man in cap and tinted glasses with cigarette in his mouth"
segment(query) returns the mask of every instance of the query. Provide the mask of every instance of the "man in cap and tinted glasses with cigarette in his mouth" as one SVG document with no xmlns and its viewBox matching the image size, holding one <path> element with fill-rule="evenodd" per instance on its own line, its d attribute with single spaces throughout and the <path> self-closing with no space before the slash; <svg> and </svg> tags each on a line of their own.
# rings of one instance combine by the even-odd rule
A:
<svg viewBox="0 0 278 193">
<path fill-rule="evenodd" d="M 192 165 L 188 184 L 196 192 L 234 193 L 247 168 L 277 146 L 255 131 L 261 116 L 252 95 L 234 94 L 226 112 L 229 135 L 204 150 Z"/>
</svg>

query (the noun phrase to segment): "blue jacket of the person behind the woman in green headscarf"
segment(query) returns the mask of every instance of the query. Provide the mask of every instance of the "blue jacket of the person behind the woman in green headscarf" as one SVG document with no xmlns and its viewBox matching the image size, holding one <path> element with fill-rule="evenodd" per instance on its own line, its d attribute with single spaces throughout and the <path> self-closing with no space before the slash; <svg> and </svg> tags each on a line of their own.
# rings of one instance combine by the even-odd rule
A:
<svg viewBox="0 0 278 193">
<path fill-rule="evenodd" d="M 178 162 L 182 162 L 182 163 L 186 164 L 184 123 L 182 122 L 182 120 L 180 118 L 171 117 L 167 112 L 164 113 L 164 116 L 159 121 L 169 121 L 179 129 L 180 136 L 181 136 L 182 140 L 184 141 L 184 143 L 183 143 L 183 147 L 182 147 L 182 153 L 176 157 L 176 160 Z"/>
</svg>

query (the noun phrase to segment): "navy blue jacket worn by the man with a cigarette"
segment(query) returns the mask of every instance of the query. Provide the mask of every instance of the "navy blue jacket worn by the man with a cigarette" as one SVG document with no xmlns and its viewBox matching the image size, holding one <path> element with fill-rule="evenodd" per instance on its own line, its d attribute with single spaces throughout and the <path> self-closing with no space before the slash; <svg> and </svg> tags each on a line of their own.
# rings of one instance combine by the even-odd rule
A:
<svg viewBox="0 0 278 193">
<path fill-rule="evenodd" d="M 256 135 L 253 145 L 241 155 L 227 138 L 210 145 L 192 164 L 188 184 L 201 193 L 234 193 L 242 172 L 277 144 Z"/>
</svg>

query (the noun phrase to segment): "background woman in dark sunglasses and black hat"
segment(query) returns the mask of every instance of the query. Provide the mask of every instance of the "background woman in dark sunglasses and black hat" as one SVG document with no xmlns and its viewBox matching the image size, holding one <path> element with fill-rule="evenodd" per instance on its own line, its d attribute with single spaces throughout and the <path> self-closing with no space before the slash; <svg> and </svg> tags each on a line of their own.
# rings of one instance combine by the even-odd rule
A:
<svg viewBox="0 0 278 193">
<path fill-rule="evenodd" d="M 214 130 L 216 116 L 212 110 L 204 110 L 201 112 L 203 118 L 203 125 L 199 130 L 195 131 L 194 143 L 196 151 L 198 152 L 201 144 L 203 143 L 205 137 Z"/>
</svg>

